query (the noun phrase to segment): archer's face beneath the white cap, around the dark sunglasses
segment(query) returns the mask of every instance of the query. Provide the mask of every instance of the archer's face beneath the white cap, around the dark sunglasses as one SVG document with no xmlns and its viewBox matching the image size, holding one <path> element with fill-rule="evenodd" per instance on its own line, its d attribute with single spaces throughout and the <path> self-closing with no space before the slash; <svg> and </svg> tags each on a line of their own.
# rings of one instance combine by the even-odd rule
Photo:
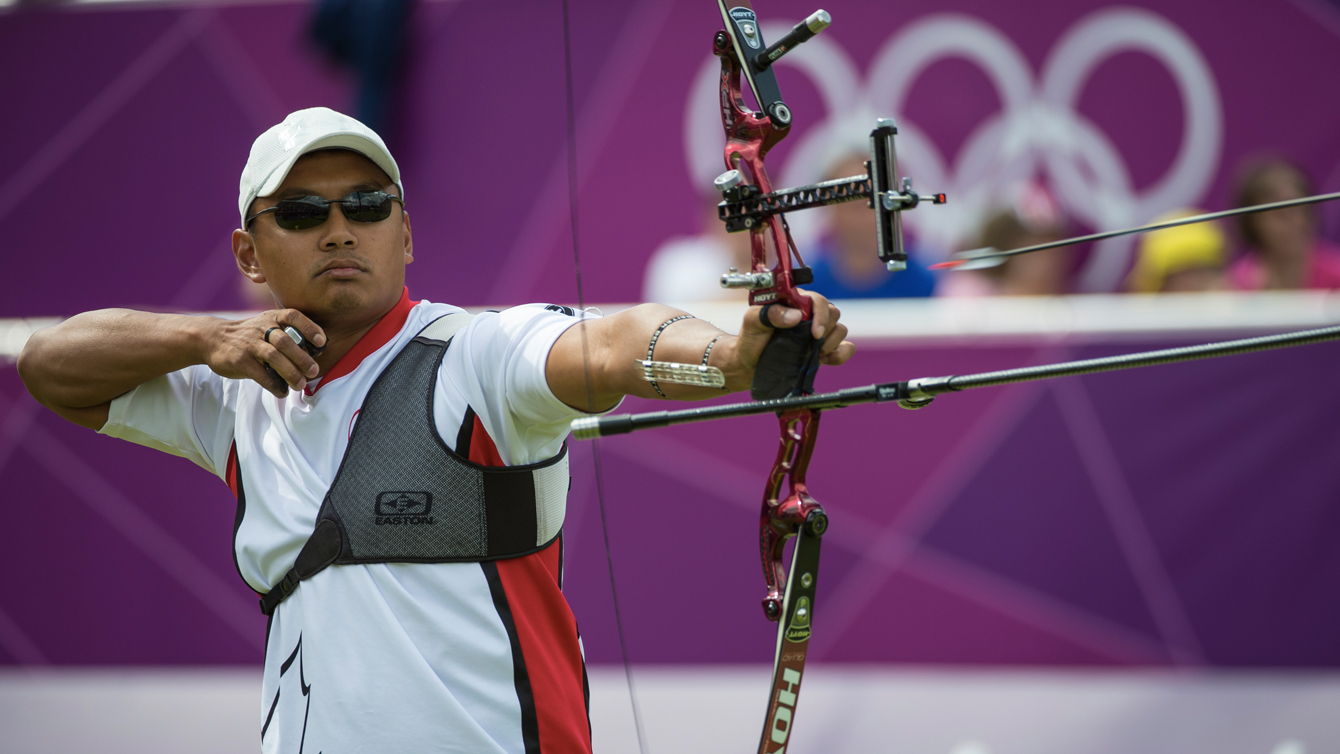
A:
<svg viewBox="0 0 1340 754">
<path fill-rule="evenodd" d="M 340 200 L 352 192 L 399 194 L 373 161 L 347 150 L 306 154 L 272 196 L 257 198 L 248 217 L 285 198 L 316 196 Z M 233 233 L 233 253 L 243 273 L 265 283 L 281 307 L 295 308 L 319 324 L 324 320 L 379 317 L 399 300 L 405 265 L 414 260 L 410 221 L 399 202 L 381 222 L 354 222 L 339 204 L 330 217 L 307 230 L 285 230 L 273 213 Z"/>
</svg>

